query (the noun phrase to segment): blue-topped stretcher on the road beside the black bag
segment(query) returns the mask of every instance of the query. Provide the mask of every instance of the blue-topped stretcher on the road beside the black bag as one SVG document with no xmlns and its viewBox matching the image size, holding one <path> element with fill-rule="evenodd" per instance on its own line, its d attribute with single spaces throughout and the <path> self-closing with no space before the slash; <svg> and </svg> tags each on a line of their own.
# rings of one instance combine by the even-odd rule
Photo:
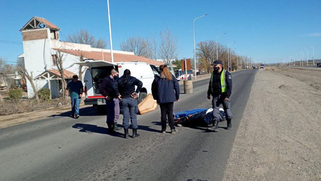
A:
<svg viewBox="0 0 321 181">
<path fill-rule="evenodd" d="M 195 108 L 186 111 L 182 111 L 182 108 L 177 108 L 174 110 L 180 110 L 178 112 L 173 112 L 174 124 L 182 124 L 188 120 L 197 119 L 204 117 L 208 108 Z"/>
</svg>

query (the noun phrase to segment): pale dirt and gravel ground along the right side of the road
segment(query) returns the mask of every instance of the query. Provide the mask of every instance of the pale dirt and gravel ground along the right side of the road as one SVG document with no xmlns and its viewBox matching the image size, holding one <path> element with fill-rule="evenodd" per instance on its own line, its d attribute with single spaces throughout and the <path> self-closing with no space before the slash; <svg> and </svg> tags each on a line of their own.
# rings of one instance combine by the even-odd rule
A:
<svg viewBox="0 0 321 181">
<path fill-rule="evenodd" d="M 259 70 L 223 180 L 321 180 L 321 69 Z"/>
</svg>

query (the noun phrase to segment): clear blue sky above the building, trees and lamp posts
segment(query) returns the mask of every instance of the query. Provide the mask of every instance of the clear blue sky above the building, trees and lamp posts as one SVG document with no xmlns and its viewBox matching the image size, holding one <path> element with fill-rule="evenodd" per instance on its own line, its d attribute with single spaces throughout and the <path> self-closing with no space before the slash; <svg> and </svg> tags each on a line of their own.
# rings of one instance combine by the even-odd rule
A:
<svg viewBox="0 0 321 181">
<path fill-rule="evenodd" d="M 236 51 L 266 63 L 279 62 L 314 46 L 315 58 L 321 58 L 320 0 L 110 0 L 114 49 L 121 39 L 130 36 L 158 35 L 168 27 L 177 35 L 180 57 L 193 57 L 193 20 L 196 20 L 196 42 L 216 39 L 219 43 L 236 42 Z M 15 1 L 0 3 L 0 40 L 22 42 L 19 31 L 33 16 L 57 25 L 60 39 L 80 29 L 108 41 L 107 1 Z M 0 42 L 0 56 L 16 61 L 22 45 Z M 312 49 L 309 48 L 312 59 Z"/>
</svg>

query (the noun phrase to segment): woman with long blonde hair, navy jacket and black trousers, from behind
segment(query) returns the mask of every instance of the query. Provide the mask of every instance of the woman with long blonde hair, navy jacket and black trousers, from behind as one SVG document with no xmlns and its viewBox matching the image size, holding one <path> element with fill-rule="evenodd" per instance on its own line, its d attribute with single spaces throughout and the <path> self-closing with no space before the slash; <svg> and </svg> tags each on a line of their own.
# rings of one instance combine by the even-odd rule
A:
<svg viewBox="0 0 321 181">
<path fill-rule="evenodd" d="M 155 75 L 152 83 L 152 94 L 160 105 L 161 132 L 166 132 L 166 118 L 168 118 L 171 133 L 177 133 L 174 125 L 173 107 L 174 102 L 179 99 L 178 81 L 166 65 L 160 66 L 160 75 Z"/>
</svg>

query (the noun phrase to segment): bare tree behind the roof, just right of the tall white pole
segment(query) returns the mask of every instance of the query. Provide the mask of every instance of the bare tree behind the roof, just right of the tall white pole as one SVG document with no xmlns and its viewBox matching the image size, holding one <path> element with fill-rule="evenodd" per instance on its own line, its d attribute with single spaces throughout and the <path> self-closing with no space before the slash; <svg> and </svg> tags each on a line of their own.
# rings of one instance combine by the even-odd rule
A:
<svg viewBox="0 0 321 181">
<path fill-rule="evenodd" d="M 120 49 L 134 52 L 137 56 L 148 57 L 148 44 L 148 40 L 142 37 L 129 37 L 120 43 Z"/>
</svg>

